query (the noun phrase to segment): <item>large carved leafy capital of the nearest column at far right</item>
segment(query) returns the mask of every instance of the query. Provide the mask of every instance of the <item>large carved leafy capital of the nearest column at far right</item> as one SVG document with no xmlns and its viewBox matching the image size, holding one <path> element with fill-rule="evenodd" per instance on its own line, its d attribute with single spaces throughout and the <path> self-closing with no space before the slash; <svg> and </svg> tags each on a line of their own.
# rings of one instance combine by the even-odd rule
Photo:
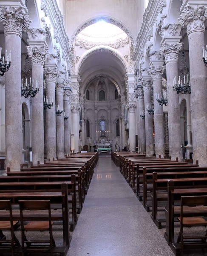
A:
<svg viewBox="0 0 207 256">
<path fill-rule="evenodd" d="M 187 27 L 187 34 L 193 31 L 205 31 L 205 21 L 207 19 L 207 7 L 205 6 L 186 6 L 180 13 L 178 19 L 181 26 Z"/>
</svg>

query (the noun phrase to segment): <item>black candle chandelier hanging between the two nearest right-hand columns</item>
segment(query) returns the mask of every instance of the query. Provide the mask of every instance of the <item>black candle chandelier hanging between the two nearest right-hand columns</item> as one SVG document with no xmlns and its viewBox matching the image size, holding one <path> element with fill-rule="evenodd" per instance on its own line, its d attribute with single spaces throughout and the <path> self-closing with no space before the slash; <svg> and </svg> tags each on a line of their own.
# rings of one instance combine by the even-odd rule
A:
<svg viewBox="0 0 207 256">
<path fill-rule="evenodd" d="M 177 93 L 191 93 L 190 91 L 190 75 L 188 73 L 188 69 L 186 66 L 186 60 L 185 60 L 185 52 L 182 51 L 181 56 L 181 70 L 179 73 L 178 80 L 176 77 L 173 79 L 173 90 Z"/>
</svg>

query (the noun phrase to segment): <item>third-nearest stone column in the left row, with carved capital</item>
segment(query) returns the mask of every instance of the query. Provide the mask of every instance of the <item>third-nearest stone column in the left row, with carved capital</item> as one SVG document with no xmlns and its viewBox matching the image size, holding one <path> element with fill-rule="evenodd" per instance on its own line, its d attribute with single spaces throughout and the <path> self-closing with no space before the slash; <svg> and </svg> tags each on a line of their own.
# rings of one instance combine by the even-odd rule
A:
<svg viewBox="0 0 207 256">
<path fill-rule="evenodd" d="M 47 158 L 53 159 L 57 157 L 56 153 L 56 113 L 55 113 L 55 82 L 59 76 L 57 65 L 55 63 L 45 64 L 45 83 L 46 83 L 46 96 L 53 102 L 51 109 L 46 109 L 46 146 Z"/>
</svg>

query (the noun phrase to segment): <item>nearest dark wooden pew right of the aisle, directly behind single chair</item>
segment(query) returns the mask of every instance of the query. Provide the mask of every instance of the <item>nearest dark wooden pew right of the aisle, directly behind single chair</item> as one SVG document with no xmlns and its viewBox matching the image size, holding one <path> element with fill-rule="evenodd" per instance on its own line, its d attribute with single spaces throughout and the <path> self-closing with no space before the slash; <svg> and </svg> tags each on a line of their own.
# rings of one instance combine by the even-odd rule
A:
<svg viewBox="0 0 207 256">
<path fill-rule="evenodd" d="M 175 202 L 181 200 L 181 196 L 194 196 L 194 195 L 207 195 L 207 186 L 203 188 L 188 188 L 188 189 L 175 189 L 174 181 L 168 180 L 167 182 L 167 206 L 165 207 L 166 215 L 166 232 L 164 238 L 167 244 L 173 250 L 176 256 L 180 255 L 180 244 L 177 243 L 174 237 L 174 221 L 175 218 L 180 216 L 180 207 L 175 206 Z M 194 216 L 195 212 L 192 207 L 185 209 L 186 216 Z M 207 209 L 201 207 L 199 215 L 207 215 Z"/>
</svg>

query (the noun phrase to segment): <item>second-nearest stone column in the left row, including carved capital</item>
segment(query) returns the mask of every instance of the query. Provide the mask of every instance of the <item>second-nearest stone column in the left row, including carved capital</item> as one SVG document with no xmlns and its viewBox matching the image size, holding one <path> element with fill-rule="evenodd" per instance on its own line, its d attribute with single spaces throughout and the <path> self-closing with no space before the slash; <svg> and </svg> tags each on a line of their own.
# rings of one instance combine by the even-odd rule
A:
<svg viewBox="0 0 207 256">
<path fill-rule="evenodd" d="M 31 58 L 32 79 L 34 85 L 39 81 L 40 90 L 34 98 L 31 98 L 31 147 L 32 162 L 44 162 L 44 114 L 43 114 L 43 74 L 45 63 L 45 41 L 28 40 L 31 47 L 28 47 L 28 55 Z"/>
</svg>

